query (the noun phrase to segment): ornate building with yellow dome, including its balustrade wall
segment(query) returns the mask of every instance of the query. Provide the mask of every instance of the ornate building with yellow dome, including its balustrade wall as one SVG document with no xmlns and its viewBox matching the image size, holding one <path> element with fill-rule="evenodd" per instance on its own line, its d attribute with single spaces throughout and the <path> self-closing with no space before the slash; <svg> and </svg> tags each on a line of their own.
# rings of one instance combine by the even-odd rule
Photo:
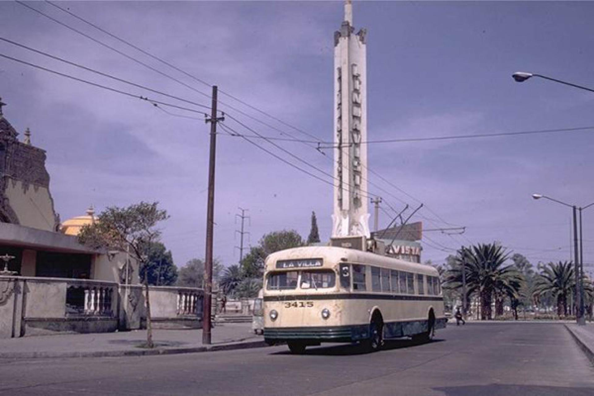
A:
<svg viewBox="0 0 594 396">
<path fill-rule="evenodd" d="M 0 338 L 109 332 L 144 326 L 138 263 L 126 252 L 78 243 L 93 208 L 61 223 L 46 153 L 5 118 L 0 99 Z M 82 210 L 81 210 L 82 212 Z M 203 290 L 150 286 L 153 325 L 201 326 Z"/>
</svg>

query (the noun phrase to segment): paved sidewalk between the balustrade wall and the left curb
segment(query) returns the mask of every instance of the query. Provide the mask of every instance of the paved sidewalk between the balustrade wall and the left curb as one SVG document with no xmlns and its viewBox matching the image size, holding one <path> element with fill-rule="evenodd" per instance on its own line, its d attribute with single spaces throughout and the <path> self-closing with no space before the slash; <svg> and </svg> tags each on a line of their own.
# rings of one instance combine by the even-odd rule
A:
<svg viewBox="0 0 594 396">
<path fill-rule="evenodd" d="M 153 330 L 155 349 L 138 347 L 146 341 L 146 330 L 56 334 L 0 340 L 0 359 L 40 357 L 146 356 L 264 347 L 251 323 L 217 324 L 211 330 L 212 344 L 202 344 L 202 330 Z"/>
</svg>

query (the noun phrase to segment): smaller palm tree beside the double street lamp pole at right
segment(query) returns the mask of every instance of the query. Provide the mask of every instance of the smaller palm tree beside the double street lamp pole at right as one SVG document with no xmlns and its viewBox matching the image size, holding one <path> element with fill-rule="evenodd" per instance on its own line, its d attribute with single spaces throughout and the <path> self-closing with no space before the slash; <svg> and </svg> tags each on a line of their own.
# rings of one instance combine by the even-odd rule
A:
<svg viewBox="0 0 594 396">
<path fill-rule="evenodd" d="M 567 297 L 576 288 L 574 274 L 571 261 L 549 262 L 536 277 L 534 294 L 551 295 L 557 300 L 557 315 L 567 316 Z"/>
</svg>

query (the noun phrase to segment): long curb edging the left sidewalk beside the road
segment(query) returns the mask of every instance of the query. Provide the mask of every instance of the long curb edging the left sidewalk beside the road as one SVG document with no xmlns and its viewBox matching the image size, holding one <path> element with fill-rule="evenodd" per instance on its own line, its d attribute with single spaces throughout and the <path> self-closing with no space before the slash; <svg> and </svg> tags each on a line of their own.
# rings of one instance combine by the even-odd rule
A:
<svg viewBox="0 0 594 396">
<path fill-rule="evenodd" d="M 156 356 L 182 353 L 217 352 L 239 349 L 267 347 L 264 341 L 247 341 L 213 345 L 208 347 L 188 347 L 169 349 L 129 349 L 120 351 L 85 351 L 85 352 L 0 352 L 0 359 L 48 359 L 59 357 L 128 357 L 128 356 Z"/>
</svg>

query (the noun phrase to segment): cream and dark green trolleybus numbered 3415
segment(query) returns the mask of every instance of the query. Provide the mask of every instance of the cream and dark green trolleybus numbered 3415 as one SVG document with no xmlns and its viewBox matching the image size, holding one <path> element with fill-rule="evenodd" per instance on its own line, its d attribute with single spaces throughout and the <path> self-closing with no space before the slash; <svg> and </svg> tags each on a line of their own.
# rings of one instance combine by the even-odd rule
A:
<svg viewBox="0 0 594 396">
<path fill-rule="evenodd" d="M 445 328 L 437 270 L 356 249 L 307 246 L 271 254 L 264 267 L 264 339 L 304 353 L 320 343 L 431 340 Z"/>
</svg>

